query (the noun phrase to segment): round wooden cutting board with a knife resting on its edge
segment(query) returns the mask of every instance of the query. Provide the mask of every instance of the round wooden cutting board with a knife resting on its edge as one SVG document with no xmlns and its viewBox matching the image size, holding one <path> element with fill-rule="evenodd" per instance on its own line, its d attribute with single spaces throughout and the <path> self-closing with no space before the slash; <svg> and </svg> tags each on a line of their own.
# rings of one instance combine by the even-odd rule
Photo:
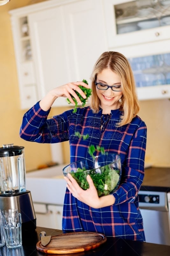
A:
<svg viewBox="0 0 170 256">
<path fill-rule="evenodd" d="M 52 236 L 51 241 L 46 246 L 39 241 L 37 250 L 52 254 L 65 254 L 89 251 L 99 247 L 107 240 L 106 236 L 95 232 L 72 232 Z"/>
</svg>

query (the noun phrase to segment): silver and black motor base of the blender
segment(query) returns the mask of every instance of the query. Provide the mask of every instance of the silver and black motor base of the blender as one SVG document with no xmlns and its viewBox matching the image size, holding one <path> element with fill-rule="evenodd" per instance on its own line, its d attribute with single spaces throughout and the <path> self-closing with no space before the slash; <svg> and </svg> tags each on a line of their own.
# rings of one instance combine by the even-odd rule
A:
<svg viewBox="0 0 170 256">
<path fill-rule="evenodd" d="M 0 194 L 0 209 L 18 209 L 21 213 L 22 230 L 36 229 L 36 216 L 29 190 L 18 194 Z"/>
</svg>

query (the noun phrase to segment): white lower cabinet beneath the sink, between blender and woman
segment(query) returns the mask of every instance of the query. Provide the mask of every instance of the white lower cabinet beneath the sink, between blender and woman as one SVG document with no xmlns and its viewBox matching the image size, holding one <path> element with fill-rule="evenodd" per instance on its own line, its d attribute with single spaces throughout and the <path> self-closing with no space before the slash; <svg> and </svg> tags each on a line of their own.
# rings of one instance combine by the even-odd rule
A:
<svg viewBox="0 0 170 256">
<path fill-rule="evenodd" d="M 63 205 L 34 203 L 37 227 L 62 229 Z"/>
</svg>

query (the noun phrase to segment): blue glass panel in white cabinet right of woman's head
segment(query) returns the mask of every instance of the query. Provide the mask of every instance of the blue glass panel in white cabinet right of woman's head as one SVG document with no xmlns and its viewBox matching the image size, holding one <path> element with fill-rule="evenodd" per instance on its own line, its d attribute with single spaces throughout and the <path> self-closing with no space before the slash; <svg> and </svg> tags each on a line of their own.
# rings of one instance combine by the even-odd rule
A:
<svg viewBox="0 0 170 256">
<path fill-rule="evenodd" d="M 137 87 L 170 84 L 170 53 L 128 60 Z"/>
</svg>

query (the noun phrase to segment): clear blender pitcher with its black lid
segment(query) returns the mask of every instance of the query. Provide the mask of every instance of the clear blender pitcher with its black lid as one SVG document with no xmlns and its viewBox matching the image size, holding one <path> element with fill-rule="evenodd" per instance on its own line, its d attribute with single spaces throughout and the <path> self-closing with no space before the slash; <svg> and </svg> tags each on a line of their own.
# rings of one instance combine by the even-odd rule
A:
<svg viewBox="0 0 170 256">
<path fill-rule="evenodd" d="M 25 172 L 24 147 L 4 144 L 0 148 L 0 192 L 5 195 L 25 192 Z"/>
</svg>

